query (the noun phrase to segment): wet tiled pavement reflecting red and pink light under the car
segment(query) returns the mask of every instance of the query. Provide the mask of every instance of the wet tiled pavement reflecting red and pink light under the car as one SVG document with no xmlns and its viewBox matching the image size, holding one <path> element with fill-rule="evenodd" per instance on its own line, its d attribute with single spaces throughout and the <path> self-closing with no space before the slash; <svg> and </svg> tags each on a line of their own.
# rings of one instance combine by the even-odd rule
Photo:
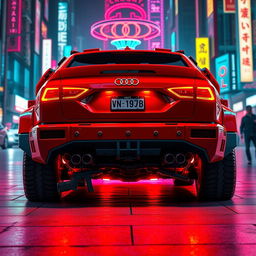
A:
<svg viewBox="0 0 256 256">
<path fill-rule="evenodd" d="M 256 255 L 256 160 L 237 149 L 233 200 L 197 202 L 172 181 L 96 181 L 95 192 L 30 203 L 22 152 L 0 150 L 0 255 Z"/>
</svg>

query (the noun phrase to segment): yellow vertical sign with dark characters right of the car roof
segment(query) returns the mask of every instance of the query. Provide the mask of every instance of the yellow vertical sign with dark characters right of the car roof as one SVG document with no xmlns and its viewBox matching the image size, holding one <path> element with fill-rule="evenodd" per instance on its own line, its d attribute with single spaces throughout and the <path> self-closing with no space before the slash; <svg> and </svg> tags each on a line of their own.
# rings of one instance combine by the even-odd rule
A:
<svg viewBox="0 0 256 256">
<path fill-rule="evenodd" d="M 196 61 L 200 68 L 210 69 L 209 38 L 196 38 Z"/>
</svg>

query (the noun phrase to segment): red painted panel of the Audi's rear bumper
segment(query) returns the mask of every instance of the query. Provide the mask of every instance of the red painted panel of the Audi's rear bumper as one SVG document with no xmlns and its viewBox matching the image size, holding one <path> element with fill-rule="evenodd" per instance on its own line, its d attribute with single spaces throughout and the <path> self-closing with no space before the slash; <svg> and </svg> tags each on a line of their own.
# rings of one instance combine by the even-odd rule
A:
<svg viewBox="0 0 256 256">
<path fill-rule="evenodd" d="M 191 129 L 214 129 L 217 131 L 217 138 L 192 138 L 190 136 Z M 61 139 L 40 139 L 40 131 L 43 130 L 65 130 L 65 138 Z M 131 135 L 126 136 L 126 131 L 130 131 Z M 103 133 L 98 136 L 98 132 Z M 154 136 L 154 131 L 158 131 L 159 135 Z M 181 131 L 182 135 L 178 136 L 177 131 Z M 75 132 L 79 132 L 79 136 L 75 136 Z M 33 128 L 30 133 L 30 143 L 33 142 L 36 148 L 32 152 L 33 159 L 38 162 L 45 163 L 48 153 L 56 147 L 63 146 L 72 141 L 104 141 L 104 140 L 178 140 L 187 141 L 207 152 L 211 162 L 221 160 L 224 152 L 220 151 L 221 141 L 226 140 L 224 127 L 217 124 L 193 124 L 179 123 L 176 125 L 167 125 L 165 123 L 115 123 L 115 124 L 54 124 L 39 125 Z"/>
</svg>

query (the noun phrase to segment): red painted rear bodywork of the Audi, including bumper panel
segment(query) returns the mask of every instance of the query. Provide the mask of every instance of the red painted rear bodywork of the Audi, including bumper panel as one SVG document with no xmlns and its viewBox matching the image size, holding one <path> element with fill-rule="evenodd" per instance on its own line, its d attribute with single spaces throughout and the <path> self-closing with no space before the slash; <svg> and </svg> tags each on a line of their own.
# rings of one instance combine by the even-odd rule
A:
<svg viewBox="0 0 256 256">
<path fill-rule="evenodd" d="M 146 52 L 152 56 L 157 53 L 109 52 L 129 55 Z M 102 53 L 106 51 L 97 52 Z M 92 52 L 72 55 L 43 85 L 38 86 L 40 88 L 35 105 L 21 116 L 19 133 L 29 134 L 33 160 L 46 163 L 50 152 L 67 143 L 105 140 L 184 141 L 204 151 L 210 162 L 223 158 L 226 132 L 236 132 L 235 117 L 230 109 L 228 111 L 231 114 L 224 115 L 226 109 L 220 104 L 219 87 L 216 84 L 214 86 L 211 79 L 185 55 L 171 53 L 181 58 L 184 66 L 121 63 L 69 67 L 76 58 L 86 57 L 87 54 Z M 114 82 L 117 78 L 136 78 L 139 84 L 118 86 Z M 188 87 L 194 92 L 192 96 L 187 96 Z M 64 99 L 65 88 L 85 88 L 88 91 L 76 98 Z M 168 88 L 182 88 L 182 95 L 173 93 Z M 46 98 L 43 101 L 46 89 L 53 90 L 56 99 Z M 204 99 L 197 98 L 199 90 L 201 94 L 205 93 Z M 72 93 L 76 93 L 75 90 L 71 91 L 71 95 Z M 113 111 L 111 101 L 117 97 L 143 98 L 145 109 Z M 27 112 L 32 115 L 26 115 Z M 213 129 L 216 130 L 216 137 L 192 138 L 192 129 Z M 65 131 L 65 136 L 41 139 L 40 132 L 44 130 Z M 156 131 L 157 135 L 154 135 Z M 181 132 L 180 136 L 177 131 Z M 75 136 L 76 132 L 79 136 Z M 98 135 L 99 132 L 102 133 L 101 136 Z"/>
</svg>

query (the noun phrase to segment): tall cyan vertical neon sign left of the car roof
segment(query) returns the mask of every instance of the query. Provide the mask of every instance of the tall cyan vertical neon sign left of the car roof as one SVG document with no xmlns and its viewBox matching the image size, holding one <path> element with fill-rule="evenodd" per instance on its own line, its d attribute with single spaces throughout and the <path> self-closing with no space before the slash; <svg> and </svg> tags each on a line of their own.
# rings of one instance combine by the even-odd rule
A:
<svg viewBox="0 0 256 256">
<path fill-rule="evenodd" d="M 64 48 L 68 43 L 68 3 L 58 3 L 58 58 L 64 54 Z"/>
</svg>

